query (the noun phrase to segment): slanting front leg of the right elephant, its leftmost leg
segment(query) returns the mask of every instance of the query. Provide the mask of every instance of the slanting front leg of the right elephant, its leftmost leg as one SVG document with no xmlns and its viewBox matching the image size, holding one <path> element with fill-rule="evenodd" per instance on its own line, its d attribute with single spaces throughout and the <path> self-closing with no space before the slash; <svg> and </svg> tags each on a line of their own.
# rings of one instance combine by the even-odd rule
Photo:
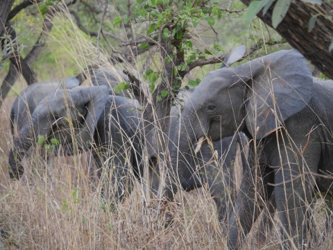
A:
<svg viewBox="0 0 333 250">
<path fill-rule="evenodd" d="M 273 186 L 274 172 L 269 167 L 255 167 L 254 145 L 250 143 L 249 168 L 241 181 L 241 188 L 228 221 L 228 246 L 239 249 L 241 238 L 247 235 L 266 204 Z"/>
</svg>

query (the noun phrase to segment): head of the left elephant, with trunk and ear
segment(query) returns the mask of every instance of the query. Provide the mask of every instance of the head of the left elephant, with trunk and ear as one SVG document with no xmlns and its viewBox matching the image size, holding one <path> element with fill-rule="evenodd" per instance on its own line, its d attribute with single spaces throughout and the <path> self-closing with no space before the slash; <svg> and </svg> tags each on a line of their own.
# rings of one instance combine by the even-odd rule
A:
<svg viewBox="0 0 333 250">
<path fill-rule="evenodd" d="M 24 169 L 20 162 L 38 135 L 44 135 L 46 140 L 56 138 L 64 144 L 72 142 L 71 132 L 74 129 L 78 149 L 90 147 L 107 100 L 106 86 L 58 90 L 44 97 L 14 140 L 8 160 L 10 178 L 22 176 Z"/>
</svg>

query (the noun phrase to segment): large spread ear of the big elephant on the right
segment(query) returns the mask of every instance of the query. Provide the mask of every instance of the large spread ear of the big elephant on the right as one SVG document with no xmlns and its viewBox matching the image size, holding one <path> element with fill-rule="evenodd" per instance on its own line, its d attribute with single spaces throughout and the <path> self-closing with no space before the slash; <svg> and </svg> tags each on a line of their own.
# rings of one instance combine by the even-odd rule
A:
<svg viewBox="0 0 333 250">
<path fill-rule="evenodd" d="M 311 100 L 311 69 L 296 49 L 278 51 L 238 68 L 248 89 L 246 126 L 257 140 L 278 129 Z"/>
</svg>

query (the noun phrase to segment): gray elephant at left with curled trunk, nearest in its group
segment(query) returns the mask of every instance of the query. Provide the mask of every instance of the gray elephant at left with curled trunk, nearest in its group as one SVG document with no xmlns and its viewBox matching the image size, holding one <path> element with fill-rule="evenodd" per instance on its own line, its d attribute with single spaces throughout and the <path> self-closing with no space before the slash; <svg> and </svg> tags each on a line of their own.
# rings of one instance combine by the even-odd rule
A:
<svg viewBox="0 0 333 250">
<path fill-rule="evenodd" d="M 99 177 L 105 169 L 103 192 L 115 201 L 130 193 L 133 177 L 142 176 L 141 113 L 137 102 L 125 97 L 108 96 L 108 87 L 77 87 L 49 94 L 35 108 L 15 138 L 9 155 L 10 177 L 23 174 L 20 162 L 37 135 L 56 138 L 61 144 L 71 143 L 78 149 L 92 148 L 99 168 Z M 71 133 L 69 119 L 73 124 Z M 46 140 L 47 140 L 46 139 Z M 93 145 L 93 146 L 92 146 Z M 16 156 L 16 157 L 15 157 Z"/>
</svg>

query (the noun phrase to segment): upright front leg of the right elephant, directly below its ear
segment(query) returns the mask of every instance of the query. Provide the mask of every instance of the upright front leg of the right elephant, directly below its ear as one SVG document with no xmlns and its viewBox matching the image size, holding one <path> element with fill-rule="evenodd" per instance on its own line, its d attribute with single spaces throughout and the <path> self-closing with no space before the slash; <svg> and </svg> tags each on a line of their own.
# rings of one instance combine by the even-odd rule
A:
<svg viewBox="0 0 333 250">
<path fill-rule="evenodd" d="M 287 136 L 284 141 L 287 142 Z M 305 141 L 304 145 L 306 143 L 308 146 L 302 155 L 298 149 L 284 147 L 281 143 L 280 151 L 275 152 L 271 159 L 271 164 L 275 166 L 275 201 L 282 223 L 282 242 L 287 248 L 291 247 L 291 241 L 296 247 L 309 244 L 308 236 L 311 235 L 308 232 L 311 228 L 311 208 L 307 201 L 313 198 L 315 177 L 304 173 L 317 172 L 321 148 L 311 140 Z"/>
</svg>

